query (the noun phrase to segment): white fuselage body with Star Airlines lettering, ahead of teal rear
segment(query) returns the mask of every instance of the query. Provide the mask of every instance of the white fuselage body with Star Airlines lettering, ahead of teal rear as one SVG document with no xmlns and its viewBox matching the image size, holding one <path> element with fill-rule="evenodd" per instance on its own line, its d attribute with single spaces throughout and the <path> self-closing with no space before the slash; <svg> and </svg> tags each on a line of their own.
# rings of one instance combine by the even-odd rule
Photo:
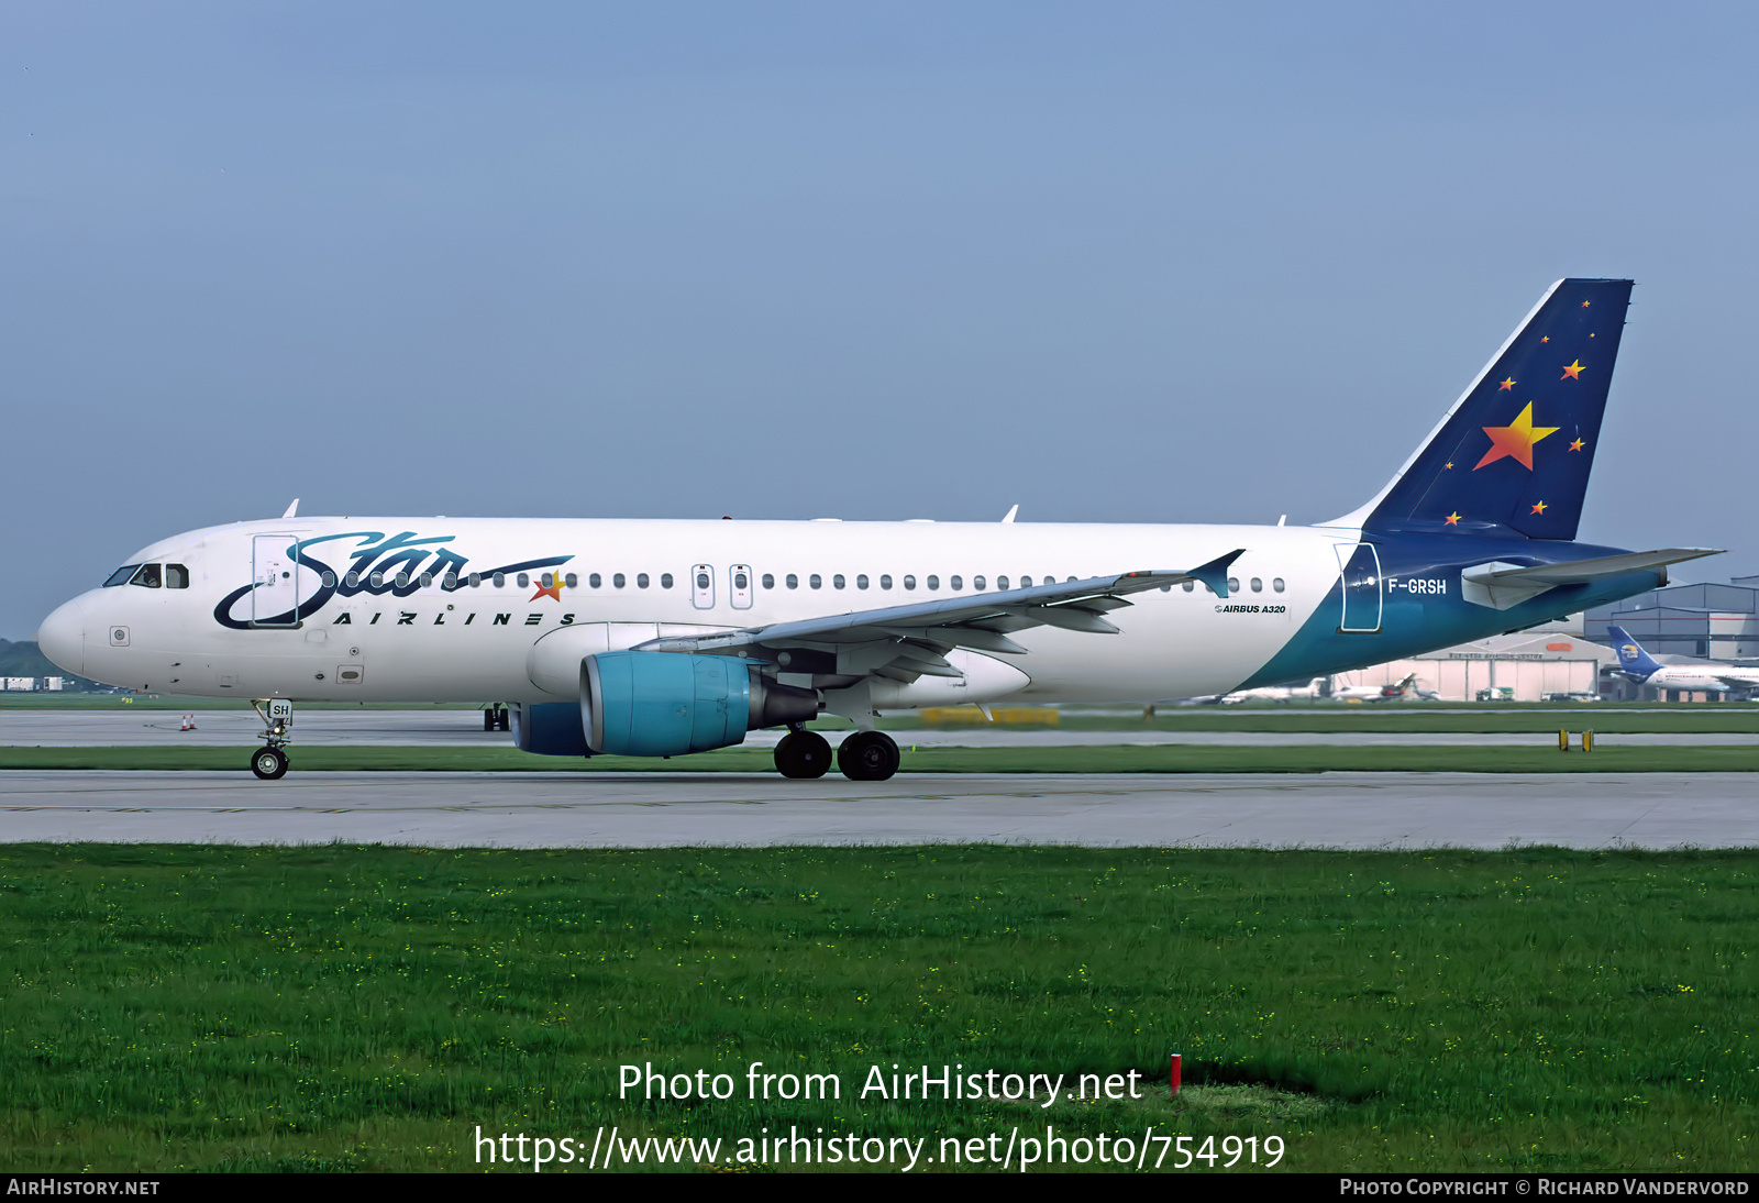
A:
<svg viewBox="0 0 1759 1203">
<path fill-rule="evenodd" d="M 1133 607 L 1110 616 L 1120 635 L 1018 631 L 1013 638 L 1027 654 L 992 658 L 1008 668 L 967 672 L 962 686 L 923 679 L 890 698 L 894 707 L 960 696 L 1150 702 L 1224 693 L 1249 679 L 1326 598 L 1339 580 L 1333 549 L 1356 536 L 1356 529 L 1295 526 L 280 519 L 190 531 L 142 549 L 128 563 L 178 565 L 188 586 L 91 589 L 56 610 L 40 638 L 56 663 L 81 675 L 188 696 L 551 702 L 572 696 L 572 684 L 566 675 L 544 679 L 533 649 L 565 630 L 588 651 L 630 647 L 656 635 L 957 598 L 1050 577 L 1184 570 L 1244 547 L 1230 568 L 1238 589 L 1226 600 L 1203 586 L 1140 593 Z M 294 542 L 301 561 L 273 563 L 271 550 Z M 531 561 L 544 566 L 505 572 L 500 586 L 489 575 L 470 584 L 470 573 Z M 334 573 L 331 596 L 315 605 L 325 570 Z M 401 587 L 399 570 L 408 573 Z M 457 575 L 454 587 L 449 570 Z M 359 573 L 352 596 L 348 572 Z M 373 572 L 385 572 L 378 584 Z M 741 572 L 744 589 L 735 587 Z M 542 591 L 544 573 L 561 580 L 559 598 Z M 704 575 L 707 587 L 698 587 Z M 304 612 L 280 626 L 252 626 L 283 603 Z"/>
</svg>

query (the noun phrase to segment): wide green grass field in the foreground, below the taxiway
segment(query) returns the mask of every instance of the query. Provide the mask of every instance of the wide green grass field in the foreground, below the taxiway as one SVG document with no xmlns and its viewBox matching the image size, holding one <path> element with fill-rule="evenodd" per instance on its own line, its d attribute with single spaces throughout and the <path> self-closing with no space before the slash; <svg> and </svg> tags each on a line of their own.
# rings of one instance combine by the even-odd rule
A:
<svg viewBox="0 0 1759 1203">
<path fill-rule="evenodd" d="M 7 846 L 0 1157 L 1054 1122 L 1275 1134 L 1282 1170 L 1747 1170 L 1755 886 L 1745 853 Z M 1168 1050 L 1177 1105 L 855 1097 L 894 1062 L 1164 1083 Z M 748 1101 L 753 1061 L 844 1096 Z M 741 1097 L 619 1101 L 646 1062 Z"/>
</svg>

